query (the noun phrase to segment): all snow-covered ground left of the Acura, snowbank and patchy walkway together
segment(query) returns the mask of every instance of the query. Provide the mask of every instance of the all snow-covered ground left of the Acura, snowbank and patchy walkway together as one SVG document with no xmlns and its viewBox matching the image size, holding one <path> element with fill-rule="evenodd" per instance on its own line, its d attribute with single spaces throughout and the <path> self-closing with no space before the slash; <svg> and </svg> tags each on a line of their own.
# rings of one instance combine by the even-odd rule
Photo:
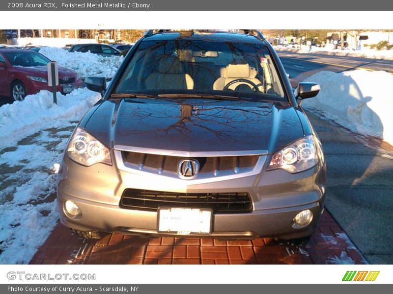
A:
<svg viewBox="0 0 393 294">
<path fill-rule="evenodd" d="M 28 263 L 55 227 L 56 173 L 71 132 L 100 98 L 41 91 L 0 107 L 0 264 Z"/>
</svg>

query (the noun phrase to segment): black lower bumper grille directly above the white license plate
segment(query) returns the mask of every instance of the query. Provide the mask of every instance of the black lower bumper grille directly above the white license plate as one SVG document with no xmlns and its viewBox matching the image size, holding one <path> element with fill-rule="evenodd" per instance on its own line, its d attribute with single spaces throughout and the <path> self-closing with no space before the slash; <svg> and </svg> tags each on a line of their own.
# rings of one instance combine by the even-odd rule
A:
<svg viewBox="0 0 393 294">
<path fill-rule="evenodd" d="M 248 193 L 173 193 L 126 189 L 120 207 L 157 211 L 158 207 L 211 208 L 213 213 L 249 213 L 253 204 Z"/>
</svg>

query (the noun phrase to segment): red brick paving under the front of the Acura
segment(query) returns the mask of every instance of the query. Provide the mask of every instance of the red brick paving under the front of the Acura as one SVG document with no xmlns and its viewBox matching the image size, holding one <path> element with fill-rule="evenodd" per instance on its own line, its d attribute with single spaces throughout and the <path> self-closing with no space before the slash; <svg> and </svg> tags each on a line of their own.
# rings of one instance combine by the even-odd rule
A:
<svg viewBox="0 0 393 294">
<path fill-rule="evenodd" d="M 217 240 L 140 238 L 108 234 L 78 239 L 56 225 L 30 264 L 366 264 L 367 261 L 328 212 L 303 246 L 272 238 Z"/>
</svg>

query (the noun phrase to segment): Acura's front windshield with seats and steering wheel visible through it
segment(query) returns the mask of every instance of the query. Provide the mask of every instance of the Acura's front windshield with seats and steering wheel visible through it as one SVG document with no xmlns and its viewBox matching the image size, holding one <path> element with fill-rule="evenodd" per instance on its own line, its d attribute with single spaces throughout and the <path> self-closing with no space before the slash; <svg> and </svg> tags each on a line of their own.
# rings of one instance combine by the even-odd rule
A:
<svg viewBox="0 0 393 294">
<path fill-rule="evenodd" d="M 199 40 L 141 42 L 114 93 L 284 98 L 264 44 Z"/>
</svg>

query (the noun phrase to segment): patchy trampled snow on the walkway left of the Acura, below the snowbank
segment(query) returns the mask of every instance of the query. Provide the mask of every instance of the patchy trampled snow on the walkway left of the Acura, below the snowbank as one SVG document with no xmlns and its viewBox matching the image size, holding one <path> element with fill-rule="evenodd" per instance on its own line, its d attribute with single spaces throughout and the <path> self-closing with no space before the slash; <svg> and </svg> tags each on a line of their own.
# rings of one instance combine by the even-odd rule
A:
<svg viewBox="0 0 393 294">
<path fill-rule="evenodd" d="M 7 182 L 0 191 L 0 264 L 28 263 L 55 227 L 56 173 L 74 127 L 63 127 L 63 135 L 40 131 L 0 154 L 0 176 Z"/>
</svg>

